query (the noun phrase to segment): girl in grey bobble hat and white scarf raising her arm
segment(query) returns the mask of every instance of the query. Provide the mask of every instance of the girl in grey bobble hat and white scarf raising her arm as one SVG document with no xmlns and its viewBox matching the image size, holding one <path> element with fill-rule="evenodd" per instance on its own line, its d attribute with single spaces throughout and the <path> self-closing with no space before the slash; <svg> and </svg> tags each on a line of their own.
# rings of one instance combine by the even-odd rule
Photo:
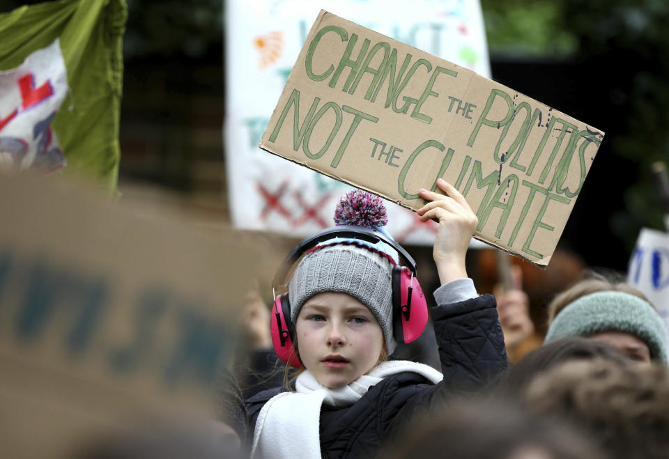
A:
<svg viewBox="0 0 669 459">
<path fill-rule="evenodd" d="M 479 297 L 465 269 L 477 218 L 452 185 L 439 180 L 438 187 L 445 195 L 420 191 L 428 202 L 417 213 L 422 221 L 439 221 L 433 258 L 442 286 L 434 293 L 431 317 L 443 375 L 426 365 L 387 361 L 397 344 L 392 318 L 397 252 L 383 241 L 321 242 L 288 282 L 293 346 L 305 371 L 295 380 L 295 391 L 279 387 L 247 400 L 253 457 L 373 457 L 387 437 L 401 435 L 403 421 L 416 412 L 456 391 L 478 389 L 507 368 L 495 299 Z M 355 196 L 360 192 L 348 199 Z M 339 207 L 339 223 L 341 214 L 355 214 L 359 207 Z M 374 212 L 362 221 L 344 215 L 343 222 L 383 231 L 385 209 Z"/>
</svg>

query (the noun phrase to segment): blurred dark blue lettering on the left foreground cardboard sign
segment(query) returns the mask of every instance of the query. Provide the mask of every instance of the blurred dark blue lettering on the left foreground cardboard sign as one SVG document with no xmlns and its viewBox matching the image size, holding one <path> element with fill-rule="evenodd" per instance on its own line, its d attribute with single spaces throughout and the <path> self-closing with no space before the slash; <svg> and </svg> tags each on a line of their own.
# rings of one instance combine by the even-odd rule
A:
<svg viewBox="0 0 669 459">
<path fill-rule="evenodd" d="M 0 248 L 0 313 L 11 316 L 14 336 L 25 345 L 38 343 L 51 327 L 52 334 L 63 337 L 63 355 L 82 357 L 95 349 L 105 313 L 112 310 L 113 286 L 109 277 L 56 265 L 46 256 L 24 261 Z M 155 374 L 166 386 L 192 380 L 213 387 L 232 333 L 226 323 L 203 312 L 210 306 L 168 286 L 141 289 L 132 304 L 128 337 L 102 349 L 109 371 Z M 157 336 L 163 325 L 176 330 L 167 342 L 158 341 L 164 340 Z"/>
</svg>

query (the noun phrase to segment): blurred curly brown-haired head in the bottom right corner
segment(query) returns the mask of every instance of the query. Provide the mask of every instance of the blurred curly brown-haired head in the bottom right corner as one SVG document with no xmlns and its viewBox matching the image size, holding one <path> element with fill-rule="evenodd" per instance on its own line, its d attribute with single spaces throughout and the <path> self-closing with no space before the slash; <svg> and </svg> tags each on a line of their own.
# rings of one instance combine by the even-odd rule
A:
<svg viewBox="0 0 669 459">
<path fill-rule="evenodd" d="M 569 361 L 536 378 L 525 403 L 570 419 L 612 458 L 669 457 L 666 366 Z"/>
</svg>

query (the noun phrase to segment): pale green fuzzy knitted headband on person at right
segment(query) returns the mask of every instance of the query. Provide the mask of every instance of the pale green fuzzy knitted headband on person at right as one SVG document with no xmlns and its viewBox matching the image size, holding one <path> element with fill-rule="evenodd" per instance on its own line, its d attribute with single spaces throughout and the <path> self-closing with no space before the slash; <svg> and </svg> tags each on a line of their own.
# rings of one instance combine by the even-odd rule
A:
<svg viewBox="0 0 669 459">
<path fill-rule="evenodd" d="M 667 332 L 657 311 L 643 299 L 620 291 L 591 293 L 555 316 L 544 343 L 567 336 L 623 332 L 648 345 L 651 359 L 667 363 Z"/>
</svg>

